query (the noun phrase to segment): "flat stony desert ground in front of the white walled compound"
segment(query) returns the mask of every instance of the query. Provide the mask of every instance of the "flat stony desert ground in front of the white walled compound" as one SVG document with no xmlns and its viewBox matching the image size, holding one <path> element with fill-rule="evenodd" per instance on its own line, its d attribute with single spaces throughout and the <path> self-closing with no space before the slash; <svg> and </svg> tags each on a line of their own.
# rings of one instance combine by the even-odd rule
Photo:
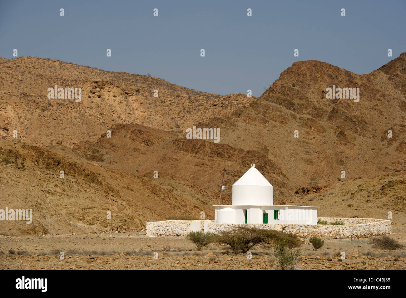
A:
<svg viewBox="0 0 406 298">
<path fill-rule="evenodd" d="M 406 244 L 400 234 L 393 234 Z M 376 249 L 370 238 L 328 239 L 313 249 L 302 238 L 302 257 L 297 269 L 303 270 L 404 270 L 404 249 Z M 64 259 L 60 259 L 64 252 Z M 156 252 L 156 253 L 155 253 Z M 187 269 L 255 270 L 279 269 L 270 251 L 260 246 L 247 254 L 233 254 L 227 247 L 209 244 L 197 251 L 185 237 L 148 237 L 142 231 L 120 231 L 87 235 L 0 236 L 0 269 Z M 346 258 L 341 257 L 345 252 Z M 154 258 L 158 256 L 158 259 Z M 339 261 L 340 259 L 340 261 Z"/>
</svg>

